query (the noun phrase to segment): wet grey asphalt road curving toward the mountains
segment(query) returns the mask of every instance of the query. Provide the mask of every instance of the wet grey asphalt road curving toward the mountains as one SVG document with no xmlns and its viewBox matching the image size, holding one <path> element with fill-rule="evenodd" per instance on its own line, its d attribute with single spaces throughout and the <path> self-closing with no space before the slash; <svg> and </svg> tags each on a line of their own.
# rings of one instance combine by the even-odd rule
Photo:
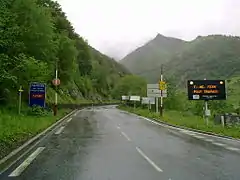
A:
<svg viewBox="0 0 240 180">
<path fill-rule="evenodd" d="M 29 166 L 9 177 L 37 148 Z M 169 129 L 105 106 L 79 111 L 0 179 L 239 180 L 238 148 L 239 142 Z"/>
</svg>

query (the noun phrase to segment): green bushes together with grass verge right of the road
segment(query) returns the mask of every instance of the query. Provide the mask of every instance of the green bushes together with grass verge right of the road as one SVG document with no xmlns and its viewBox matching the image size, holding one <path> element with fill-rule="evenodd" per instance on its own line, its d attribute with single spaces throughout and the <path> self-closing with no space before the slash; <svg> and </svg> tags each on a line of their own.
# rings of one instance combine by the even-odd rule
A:
<svg viewBox="0 0 240 180">
<path fill-rule="evenodd" d="M 128 83 L 127 81 L 121 82 L 119 85 L 121 87 L 118 87 L 118 89 L 122 89 L 122 95 L 140 95 L 141 97 L 145 97 L 147 83 L 145 82 L 144 84 L 143 80 L 138 80 L 137 78 L 139 77 L 134 78 L 136 80 L 131 81 L 131 83 Z M 164 116 L 162 118 L 160 118 L 159 113 L 155 113 L 155 105 L 152 105 L 151 112 L 149 112 L 146 105 L 143 106 L 139 102 L 136 103 L 137 108 L 135 111 L 132 102 L 125 102 L 126 105 L 122 105 L 120 108 L 141 116 L 164 121 L 172 125 L 240 138 L 239 125 L 229 125 L 223 128 L 222 125 L 214 123 L 215 115 L 222 115 L 224 113 L 239 114 L 239 78 L 235 77 L 228 80 L 228 97 L 226 101 L 209 101 L 211 117 L 209 118 L 208 126 L 203 119 L 204 101 L 189 101 L 187 99 L 186 90 L 178 87 L 175 79 L 168 78 L 166 82 L 168 97 L 164 98 Z M 128 84 L 133 85 L 130 86 Z"/>
</svg>

